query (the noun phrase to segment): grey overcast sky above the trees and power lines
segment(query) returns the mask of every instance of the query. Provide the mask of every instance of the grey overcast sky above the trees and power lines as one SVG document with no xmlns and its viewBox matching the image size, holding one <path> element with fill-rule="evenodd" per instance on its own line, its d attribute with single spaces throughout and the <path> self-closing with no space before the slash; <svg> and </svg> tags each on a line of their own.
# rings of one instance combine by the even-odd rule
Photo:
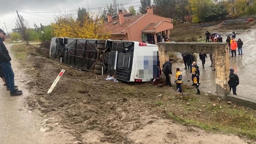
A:
<svg viewBox="0 0 256 144">
<path fill-rule="evenodd" d="M 136 6 L 135 9 L 139 9 L 140 0 L 117 0 L 118 3 L 126 4 L 124 8 L 128 11 L 130 5 Z M 135 3 L 134 3 L 135 2 Z M 137 2 L 137 3 L 136 3 Z M 85 8 L 97 8 L 91 9 L 91 12 L 98 12 L 98 7 L 106 7 L 111 4 L 112 0 L 1 0 L 0 8 L 0 28 L 6 27 L 8 32 L 11 32 L 12 28 L 15 28 L 14 18 L 16 16 L 16 10 L 20 11 L 19 15 L 22 15 L 25 20 L 29 22 L 29 26 L 33 28 L 34 23 L 40 26 L 50 24 L 54 19 L 53 16 L 58 14 L 59 9 L 61 11 L 72 11 L 78 7 Z M 133 3 L 133 4 L 127 4 Z M 102 8 L 103 9 L 103 8 Z M 56 13 L 23 13 L 23 12 L 56 12 Z M 76 15 L 76 11 L 71 12 Z M 16 16 L 17 18 L 17 16 Z M 14 23 L 13 23 L 14 22 Z"/>
</svg>

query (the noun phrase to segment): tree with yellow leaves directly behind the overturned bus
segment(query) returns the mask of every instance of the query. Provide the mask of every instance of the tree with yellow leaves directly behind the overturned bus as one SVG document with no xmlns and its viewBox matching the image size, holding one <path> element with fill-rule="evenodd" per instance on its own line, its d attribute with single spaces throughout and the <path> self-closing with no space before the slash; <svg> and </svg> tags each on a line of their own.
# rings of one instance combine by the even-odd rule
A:
<svg viewBox="0 0 256 144">
<path fill-rule="evenodd" d="M 51 23 L 54 28 L 54 35 L 56 37 L 107 39 L 110 34 L 104 32 L 103 21 L 98 16 L 85 14 L 80 16 L 83 17 L 83 21 L 69 13 L 60 13 L 60 15 L 55 16 L 55 23 Z"/>
</svg>

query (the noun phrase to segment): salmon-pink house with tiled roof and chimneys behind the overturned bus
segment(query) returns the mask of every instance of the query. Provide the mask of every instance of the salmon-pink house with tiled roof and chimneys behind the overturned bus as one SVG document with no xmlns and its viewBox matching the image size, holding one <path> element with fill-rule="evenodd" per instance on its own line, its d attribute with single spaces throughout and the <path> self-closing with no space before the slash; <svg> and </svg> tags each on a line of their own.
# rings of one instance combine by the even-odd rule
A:
<svg viewBox="0 0 256 144">
<path fill-rule="evenodd" d="M 118 12 L 118 16 L 107 15 L 108 22 L 104 23 L 104 31 L 110 32 L 113 40 L 147 41 L 157 44 L 157 35 L 169 38 L 173 24 L 170 19 L 153 14 L 153 7 L 147 7 L 147 13 L 130 16 Z"/>
</svg>

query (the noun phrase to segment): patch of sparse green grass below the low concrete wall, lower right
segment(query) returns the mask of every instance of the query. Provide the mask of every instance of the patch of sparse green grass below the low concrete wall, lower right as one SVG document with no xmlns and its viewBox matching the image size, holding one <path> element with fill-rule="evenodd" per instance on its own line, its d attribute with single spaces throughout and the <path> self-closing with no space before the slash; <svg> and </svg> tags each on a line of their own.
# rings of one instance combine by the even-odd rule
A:
<svg viewBox="0 0 256 144">
<path fill-rule="evenodd" d="M 183 125 L 198 126 L 209 131 L 234 133 L 256 139 L 256 111 L 238 106 L 234 108 L 224 101 L 217 102 L 216 99 L 214 96 L 202 95 L 193 98 L 189 95 L 182 95 L 176 97 L 174 103 L 182 107 L 168 114 L 173 120 Z M 217 106 L 213 106 L 213 103 Z"/>
</svg>

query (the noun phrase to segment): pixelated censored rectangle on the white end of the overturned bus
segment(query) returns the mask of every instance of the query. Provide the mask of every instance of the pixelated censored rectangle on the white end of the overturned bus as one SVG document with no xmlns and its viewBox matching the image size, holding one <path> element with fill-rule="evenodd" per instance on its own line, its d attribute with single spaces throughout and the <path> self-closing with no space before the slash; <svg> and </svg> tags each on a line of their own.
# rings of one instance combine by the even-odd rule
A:
<svg viewBox="0 0 256 144">
<path fill-rule="evenodd" d="M 158 51 L 153 47 L 138 49 L 138 78 L 157 78 L 157 56 Z"/>
</svg>

